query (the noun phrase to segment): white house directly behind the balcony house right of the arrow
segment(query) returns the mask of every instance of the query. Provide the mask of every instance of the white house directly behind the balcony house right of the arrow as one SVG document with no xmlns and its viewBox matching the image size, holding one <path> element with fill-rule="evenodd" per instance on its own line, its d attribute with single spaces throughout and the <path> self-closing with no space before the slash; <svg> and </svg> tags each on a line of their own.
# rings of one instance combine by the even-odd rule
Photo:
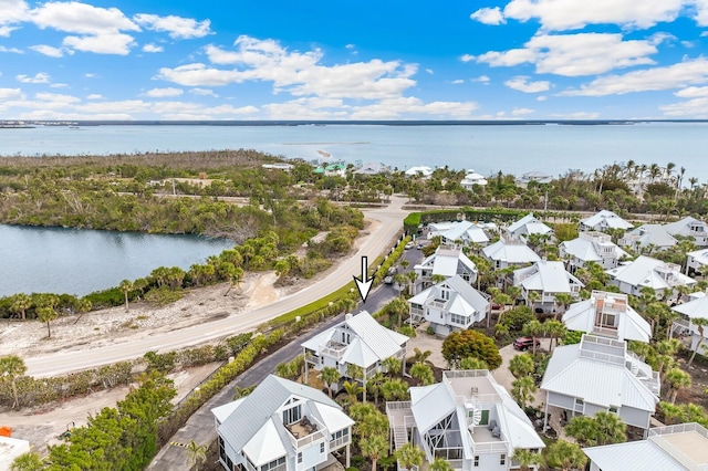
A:
<svg viewBox="0 0 708 471">
<path fill-rule="evenodd" d="M 415 281 L 415 293 L 429 287 L 434 275 L 451 278 L 459 275 L 468 284 L 477 281 L 477 265 L 459 247 L 439 245 L 435 253 L 413 268 L 418 278 Z"/>
</svg>

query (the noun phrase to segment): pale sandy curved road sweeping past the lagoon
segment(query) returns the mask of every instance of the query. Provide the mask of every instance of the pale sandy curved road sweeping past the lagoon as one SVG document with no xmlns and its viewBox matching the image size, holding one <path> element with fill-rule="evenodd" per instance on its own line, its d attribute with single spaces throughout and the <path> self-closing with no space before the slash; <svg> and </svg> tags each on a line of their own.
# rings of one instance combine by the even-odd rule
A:
<svg viewBox="0 0 708 471">
<path fill-rule="evenodd" d="M 252 329 L 283 313 L 319 300 L 352 281 L 352 275 L 361 275 L 362 255 L 374 260 L 389 248 L 397 232 L 402 229 L 403 219 L 408 214 L 408 211 L 403 209 L 406 200 L 404 197 L 394 196 L 388 207 L 365 210 L 366 219 L 378 221 L 379 224 L 373 228 L 367 236 L 357 240 L 358 249 L 354 255 L 342 261 L 321 281 L 302 291 L 278 300 L 268 306 L 239 313 L 223 320 L 185 327 L 158 337 L 27 357 L 24 359 L 28 367 L 27 375 L 34 377 L 63 375 L 137 358 L 149 350 L 166 352 L 198 345 L 214 338 Z"/>
</svg>

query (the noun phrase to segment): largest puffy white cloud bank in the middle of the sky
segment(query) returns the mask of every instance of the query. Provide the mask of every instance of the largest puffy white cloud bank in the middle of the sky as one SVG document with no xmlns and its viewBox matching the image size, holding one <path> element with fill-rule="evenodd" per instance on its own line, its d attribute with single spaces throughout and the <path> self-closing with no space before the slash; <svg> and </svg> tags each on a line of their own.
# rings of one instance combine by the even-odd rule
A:
<svg viewBox="0 0 708 471">
<path fill-rule="evenodd" d="M 325 66 L 320 64 L 323 57 L 321 50 L 290 52 L 277 41 L 249 36 L 240 36 L 235 46 L 235 51 L 223 51 L 214 45 L 205 49 L 212 63 L 235 64 L 233 69 L 195 63 L 160 69 L 156 78 L 186 86 L 267 81 L 273 83 L 275 93 L 363 100 L 398 96 L 416 84 L 410 77 L 417 72 L 417 66 L 398 61 L 372 60 Z"/>
</svg>

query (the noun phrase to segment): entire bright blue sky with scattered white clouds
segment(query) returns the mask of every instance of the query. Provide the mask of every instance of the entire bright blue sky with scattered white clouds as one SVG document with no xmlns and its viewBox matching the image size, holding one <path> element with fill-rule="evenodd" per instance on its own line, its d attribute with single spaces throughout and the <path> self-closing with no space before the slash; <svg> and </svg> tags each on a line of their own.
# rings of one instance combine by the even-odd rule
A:
<svg viewBox="0 0 708 471">
<path fill-rule="evenodd" d="M 708 0 L 0 0 L 0 119 L 708 118 Z"/>
</svg>

